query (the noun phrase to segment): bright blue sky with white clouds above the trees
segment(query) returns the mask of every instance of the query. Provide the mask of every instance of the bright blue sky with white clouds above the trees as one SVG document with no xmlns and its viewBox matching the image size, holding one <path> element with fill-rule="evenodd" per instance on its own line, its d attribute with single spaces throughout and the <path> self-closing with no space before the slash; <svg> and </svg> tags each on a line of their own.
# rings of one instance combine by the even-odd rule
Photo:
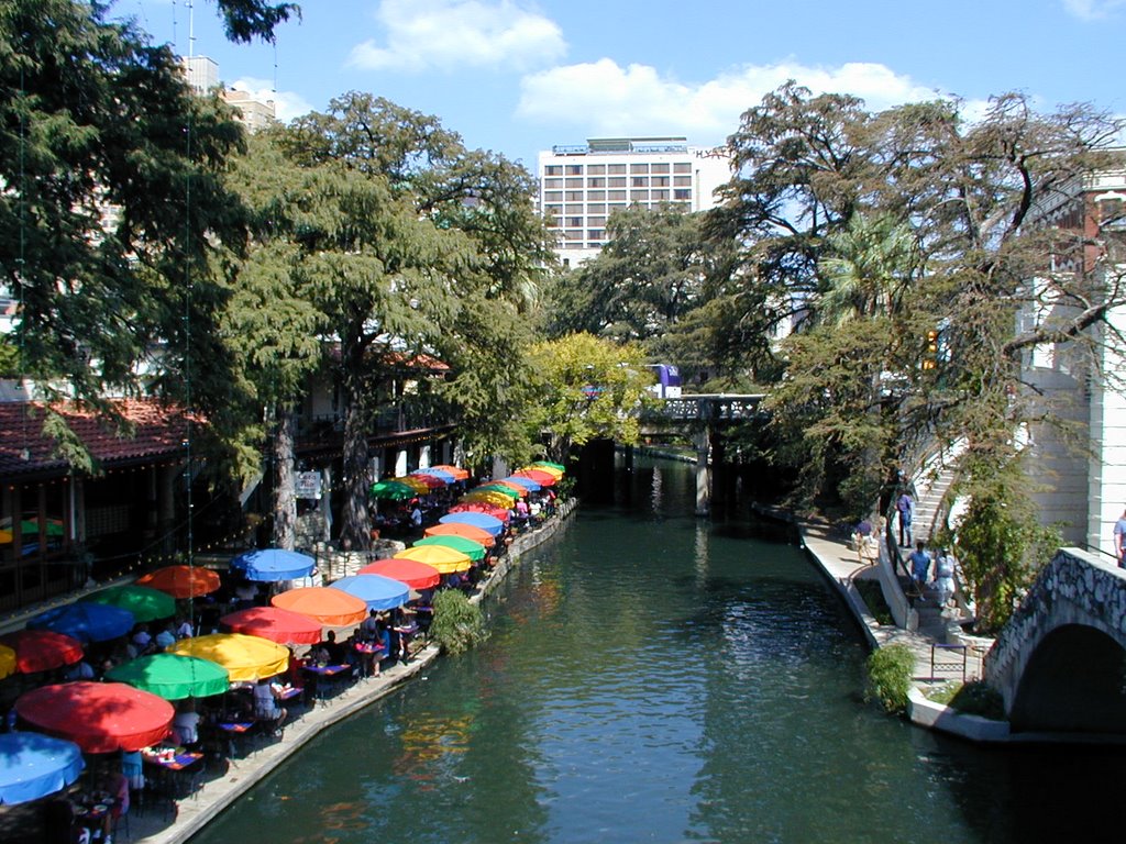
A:
<svg viewBox="0 0 1126 844">
<path fill-rule="evenodd" d="M 787 79 L 873 109 L 935 96 L 978 109 L 1017 90 L 1044 110 L 1126 114 L 1126 0 L 300 2 L 276 48 L 227 43 L 212 0 L 117 0 L 116 14 L 211 56 L 283 119 L 370 91 L 533 170 L 537 151 L 588 137 L 721 144 Z"/>
</svg>

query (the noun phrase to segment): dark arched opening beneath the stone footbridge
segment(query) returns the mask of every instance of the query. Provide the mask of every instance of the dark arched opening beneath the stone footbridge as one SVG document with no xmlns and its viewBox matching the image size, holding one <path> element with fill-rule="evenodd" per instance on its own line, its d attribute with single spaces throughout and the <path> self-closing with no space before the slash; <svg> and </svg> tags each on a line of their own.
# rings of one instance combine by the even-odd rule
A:
<svg viewBox="0 0 1126 844">
<path fill-rule="evenodd" d="M 1126 734 L 1126 649 L 1084 625 L 1049 632 L 1025 667 L 1013 731 Z"/>
</svg>

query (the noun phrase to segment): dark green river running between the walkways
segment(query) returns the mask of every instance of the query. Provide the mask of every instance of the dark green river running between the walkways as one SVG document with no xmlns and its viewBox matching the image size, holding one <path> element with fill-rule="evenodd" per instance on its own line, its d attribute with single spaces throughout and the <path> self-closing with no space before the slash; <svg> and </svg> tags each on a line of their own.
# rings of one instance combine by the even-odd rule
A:
<svg viewBox="0 0 1126 844">
<path fill-rule="evenodd" d="M 697 520 L 690 467 L 626 483 L 632 506 L 583 508 L 525 556 L 484 645 L 327 730 L 194 843 L 1121 838 L 1118 753 L 888 717 L 799 548 Z"/>
</svg>

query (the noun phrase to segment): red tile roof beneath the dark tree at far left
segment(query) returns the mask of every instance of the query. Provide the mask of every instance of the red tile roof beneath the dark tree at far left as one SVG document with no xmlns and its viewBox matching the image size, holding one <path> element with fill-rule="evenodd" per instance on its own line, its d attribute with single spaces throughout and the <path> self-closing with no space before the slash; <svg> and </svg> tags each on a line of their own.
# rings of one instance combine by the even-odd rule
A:
<svg viewBox="0 0 1126 844">
<path fill-rule="evenodd" d="M 187 422 L 179 408 L 144 398 L 114 404 L 133 424 L 132 436 L 119 433 L 111 421 L 100 419 L 92 411 L 64 405 L 55 407 L 99 468 L 167 458 L 184 449 Z M 55 441 L 43 433 L 42 404 L 0 402 L 0 477 L 65 474 L 70 465 L 55 451 Z"/>
</svg>

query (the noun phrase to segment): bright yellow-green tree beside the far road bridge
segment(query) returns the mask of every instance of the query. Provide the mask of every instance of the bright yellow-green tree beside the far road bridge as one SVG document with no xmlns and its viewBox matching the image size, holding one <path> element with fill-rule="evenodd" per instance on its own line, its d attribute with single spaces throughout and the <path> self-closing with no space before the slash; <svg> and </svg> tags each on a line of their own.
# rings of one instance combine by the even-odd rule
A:
<svg viewBox="0 0 1126 844">
<path fill-rule="evenodd" d="M 640 347 L 580 333 L 537 343 L 529 356 L 539 389 L 528 425 L 548 436 L 552 459 L 565 461 L 573 446 L 592 439 L 637 441 L 638 411 L 653 381 Z"/>
</svg>

